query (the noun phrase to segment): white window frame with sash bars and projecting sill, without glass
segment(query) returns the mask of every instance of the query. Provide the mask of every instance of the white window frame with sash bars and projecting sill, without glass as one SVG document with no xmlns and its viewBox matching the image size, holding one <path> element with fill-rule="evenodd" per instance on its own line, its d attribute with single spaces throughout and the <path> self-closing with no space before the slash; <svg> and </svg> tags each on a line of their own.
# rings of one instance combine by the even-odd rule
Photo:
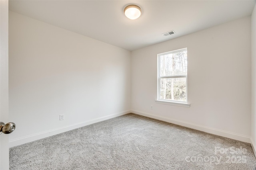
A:
<svg viewBox="0 0 256 170">
<path fill-rule="evenodd" d="M 178 49 L 174 51 L 169 51 L 166 53 L 160 53 L 157 55 L 157 100 L 156 103 L 158 104 L 168 104 L 168 105 L 173 105 L 173 106 L 182 106 L 182 107 L 190 107 L 190 104 L 188 104 L 188 73 L 186 75 L 177 75 L 177 76 L 161 76 L 160 75 L 160 56 L 161 55 L 166 55 L 166 54 L 171 54 L 171 53 L 178 53 L 180 51 L 188 51 L 187 48 L 184 49 Z M 178 100 L 170 100 L 170 99 L 161 99 L 161 92 L 160 92 L 160 83 L 161 83 L 161 78 L 186 78 L 186 101 L 178 101 Z"/>
</svg>

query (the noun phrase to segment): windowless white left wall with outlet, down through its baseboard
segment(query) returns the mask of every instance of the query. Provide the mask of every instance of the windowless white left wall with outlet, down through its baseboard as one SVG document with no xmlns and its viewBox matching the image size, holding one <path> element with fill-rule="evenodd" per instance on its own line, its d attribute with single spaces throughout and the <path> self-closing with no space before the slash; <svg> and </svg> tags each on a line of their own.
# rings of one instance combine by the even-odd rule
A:
<svg viewBox="0 0 256 170">
<path fill-rule="evenodd" d="M 11 147 L 129 113 L 130 51 L 9 15 Z"/>
</svg>

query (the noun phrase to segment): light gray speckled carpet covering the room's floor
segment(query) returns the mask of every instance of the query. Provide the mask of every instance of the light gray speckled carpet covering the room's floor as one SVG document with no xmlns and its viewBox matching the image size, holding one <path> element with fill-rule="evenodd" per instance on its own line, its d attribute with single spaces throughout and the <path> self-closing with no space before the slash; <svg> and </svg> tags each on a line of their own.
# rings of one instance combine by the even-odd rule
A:
<svg viewBox="0 0 256 170">
<path fill-rule="evenodd" d="M 11 170 L 256 170 L 249 143 L 127 114 L 10 148 Z"/>
</svg>

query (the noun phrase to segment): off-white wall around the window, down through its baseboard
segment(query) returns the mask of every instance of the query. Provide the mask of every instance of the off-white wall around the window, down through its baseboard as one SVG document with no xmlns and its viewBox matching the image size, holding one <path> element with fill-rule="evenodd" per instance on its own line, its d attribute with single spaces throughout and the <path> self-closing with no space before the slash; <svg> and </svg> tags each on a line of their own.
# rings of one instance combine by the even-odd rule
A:
<svg viewBox="0 0 256 170">
<path fill-rule="evenodd" d="M 250 21 L 249 16 L 132 51 L 132 112 L 250 142 Z M 157 54 L 186 47 L 191 106 L 156 104 Z"/>
</svg>

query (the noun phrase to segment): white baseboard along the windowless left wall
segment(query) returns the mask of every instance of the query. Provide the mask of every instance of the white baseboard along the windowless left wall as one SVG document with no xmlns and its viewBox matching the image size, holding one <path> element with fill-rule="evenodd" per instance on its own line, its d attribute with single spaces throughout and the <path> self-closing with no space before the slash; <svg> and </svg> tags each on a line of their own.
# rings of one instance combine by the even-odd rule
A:
<svg viewBox="0 0 256 170">
<path fill-rule="evenodd" d="M 107 120 L 107 119 L 111 119 L 111 118 L 114 118 L 114 117 L 125 115 L 125 114 L 128 114 L 128 113 L 131 113 L 131 111 L 127 110 L 127 111 L 123 111 L 123 112 L 120 112 L 120 113 L 115 113 L 115 114 L 112 114 L 112 115 L 107 115 L 107 116 L 104 116 L 104 117 L 98 117 L 96 119 L 91 119 L 91 120 L 88 120 L 88 121 L 76 123 L 76 124 L 73 124 L 73 125 L 68 125 L 68 126 L 65 126 L 65 127 L 58 128 L 58 129 L 52 129 L 50 131 L 44 131 L 42 133 L 37 133 L 37 134 L 34 134 L 34 135 L 29 135 L 29 136 L 26 136 L 26 137 L 10 140 L 9 141 L 9 147 L 11 148 L 11 147 L 15 147 L 15 146 L 22 145 L 22 144 L 25 144 L 25 143 L 29 143 L 29 142 L 32 142 L 32 141 L 36 141 L 38 139 L 43 139 L 43 138 L 46 138 L 46 137 L 57 135 L 59 133 L 63 133 L 63 132 L 66 132 L 66 131 L 77 129 L 79 127 L 83 127 L 83 126 L 86 126 L 86 125 L 90 125 L 90 124 L 93 124 L 93 123 L 97 123 L 97 122 L 100 122 L 100 121 L 104 121 L 104 120 Z"/>
</svg>

